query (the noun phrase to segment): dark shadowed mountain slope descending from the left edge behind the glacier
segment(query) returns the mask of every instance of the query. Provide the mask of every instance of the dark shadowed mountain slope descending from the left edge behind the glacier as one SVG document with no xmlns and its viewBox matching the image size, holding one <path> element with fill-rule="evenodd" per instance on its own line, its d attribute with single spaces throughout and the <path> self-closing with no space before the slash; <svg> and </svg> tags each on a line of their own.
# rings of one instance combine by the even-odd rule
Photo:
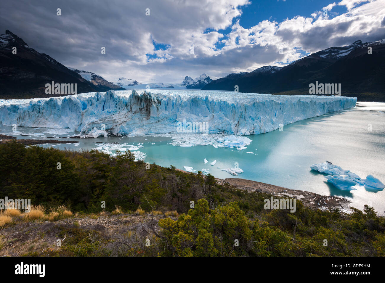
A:
<svg viewBox="0 0 385 283">
<path fill-rule="evenodd" d="M 14 50 L 16 54 L 13 54 Z M 51 84 L 52 81 L 59 84 L 77 84 L 77 93 L 112 88 L 100 83 L 95 85 L 92 81 L 84 79 L 81 74 L 68 69 L 49 55 L 32 49 L 9 30 L 0 35 L 0 58 L 1 99 L 62 96 L 45 93 L 45 84 Z M 97 80 L 105 82 L 100 78 Z"/>
</svg>

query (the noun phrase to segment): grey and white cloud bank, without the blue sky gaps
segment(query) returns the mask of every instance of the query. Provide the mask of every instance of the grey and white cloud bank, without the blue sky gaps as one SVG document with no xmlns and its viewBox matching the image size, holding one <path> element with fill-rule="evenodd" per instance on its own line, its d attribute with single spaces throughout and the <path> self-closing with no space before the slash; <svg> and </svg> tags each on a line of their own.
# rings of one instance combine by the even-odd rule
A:
<svg viewBox="0 0 385 283">
<path fill-rule="evenodd" d="M 216 31 L 231 26 L 246 3 L 247 0 L 3 1 L 0 32 L 9 29 L 33 49 L 66 66 L 95 72 L 107 80 L 126 76 L 164 82 L 181 81 L 185 75 L 196 77 L 203 72 L 219 77 L 234 70 L 293 58 L 279 54 L 277 38 L 299 42 L 303 50 L 320 50 L 357 39 L 373 41 L 385 37 L 382 16 L 378 22 L 382 21 L 382 28 L 349 34 L 353 18 L 347 15 L 343 22 L 330 22 L 306 31 L 286 27 L 265 32 L 262 41 L 266 46 L 250 44 L 255 42 L 253 31 L 246 34 L 249 44 L 228 42 L 217 50 L 215 44 L 228 38 Z M 57 8 L 61 9 L 61 16 L 57 16 Z M 150 9 L 150 16 L 145 15 L 146 8 Z M 365 20 L 362 29 L 364 23 Z M 213 32 L 204 33 L 208 28 Z M 149 62 L 146 54 L 155 52 L 153 40 L 167 45 L 167 50 L 158 54 L 163 59 Z M 195 55 L 189 54 L 192 45 Z M 106 54 L 101 54 L 101 47 L 105 47 Z"/>
</svg>

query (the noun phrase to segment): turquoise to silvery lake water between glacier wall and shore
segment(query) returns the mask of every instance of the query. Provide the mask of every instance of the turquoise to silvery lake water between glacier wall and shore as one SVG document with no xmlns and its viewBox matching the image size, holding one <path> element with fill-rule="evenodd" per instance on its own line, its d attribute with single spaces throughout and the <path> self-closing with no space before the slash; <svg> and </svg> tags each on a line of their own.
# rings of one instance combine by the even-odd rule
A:
<svg viewBox="0 0 385 283">
<path fill-rule="evenodd" d="M 371 131 L 370 131 L 371 127 Z M 2 134 L 26 139 L 69 137 L 75 134 L 68 129 L 44 129 L 0 126 Z M 27 134 L 28 136 L 21 136 Z M 314 163 L 326 160 L 343 169 L 366 178 L 372 174 L 385 182 L 385 103 L 357 102 L 354 109 L 325 114 L 283 127 L 283 131 L 248 136 L 252 142 L 241 151 L 213 146 L 180 147 L 170 144 L 170 137 L 107 137 L 76 139 L 80 144 L 54 144 L 60 149 L 92 149 L 102 144 L 96 142 L 119 142 L 143 148 L 145 162 L 161 166 L 171 164 L 179 169 L 191 166 L 195 170 L 210 169 L 217 178 L 243 178 L 290 189 L 311 191 L 322 195 L 343 196 L 352 201 L 352 206 L 363 209 L 364 204 L 373 206 L 380 215 L 385 211 L 385 190 L 368 191 L 356 186 L 355 191 L 341 191 L 326 183 L 323 174 L 310 170 Z M 73 139 L 71 139 L 73 140 Z M 114 145 L 117 146 L 117 145 Z M 119 146 L 118 146 L 119 147 Z M 114 151 L 112 151 L 114 152 Z M 248 153 L 253 152 L 253 153 Z M 204 158 L 209 162 L 204 165 Z M 214 166 L 210 162 L 216 160 Z M 234 168 L 238 163 L 243 173 L 232 176 L 221 169 Z M 217 167 L 221 167 L 218 169 Z"/>
</svg>

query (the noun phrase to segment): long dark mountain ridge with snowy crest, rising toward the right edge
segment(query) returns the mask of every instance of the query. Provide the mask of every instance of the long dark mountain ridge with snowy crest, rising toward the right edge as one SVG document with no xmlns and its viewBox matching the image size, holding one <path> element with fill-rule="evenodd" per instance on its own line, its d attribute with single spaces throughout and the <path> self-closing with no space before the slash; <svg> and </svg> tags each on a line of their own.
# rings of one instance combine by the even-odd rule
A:
<svg viewBox="0 0 385 283">
<path fill-rule="evenodd" d="M 368 54 L 372 47 L 372 54 Z M 268 94 L 309 94 L 309 84 L 341 84 L 341 94 L 359 101 L 385 101 L 385 40 L 313 53 L 285 67 L 264 66 L 253 72 L 230 74 L 203 89 L 234 90 Z"/>
</svg>

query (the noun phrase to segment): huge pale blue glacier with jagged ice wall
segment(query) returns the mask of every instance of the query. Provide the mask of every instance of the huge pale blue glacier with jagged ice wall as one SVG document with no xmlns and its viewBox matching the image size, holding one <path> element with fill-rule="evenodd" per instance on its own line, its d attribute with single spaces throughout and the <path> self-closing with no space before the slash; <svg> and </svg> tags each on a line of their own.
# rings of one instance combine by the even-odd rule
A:
<svg viewBox="0 0 385 283">
<path fill-rule="evenodd" d="M 80 137 L 94 137 L 104 136 L 105 132 L 110 136 L 176 134 L 177 122 L 186 120 L 198 125 L 198 130 L 199 123 L 208 123 L 206 134 L 247 136 L 352 108 L 356 102 L 355 97 L 333 95 L 109 90 L 64 97 L 2 99 L 0 121 L 4 126 L 71 129 L 80 132 Z M 244 140 L 235 143 L 225 146 L 243 149 L 247 144 Z"/>
</svg>

